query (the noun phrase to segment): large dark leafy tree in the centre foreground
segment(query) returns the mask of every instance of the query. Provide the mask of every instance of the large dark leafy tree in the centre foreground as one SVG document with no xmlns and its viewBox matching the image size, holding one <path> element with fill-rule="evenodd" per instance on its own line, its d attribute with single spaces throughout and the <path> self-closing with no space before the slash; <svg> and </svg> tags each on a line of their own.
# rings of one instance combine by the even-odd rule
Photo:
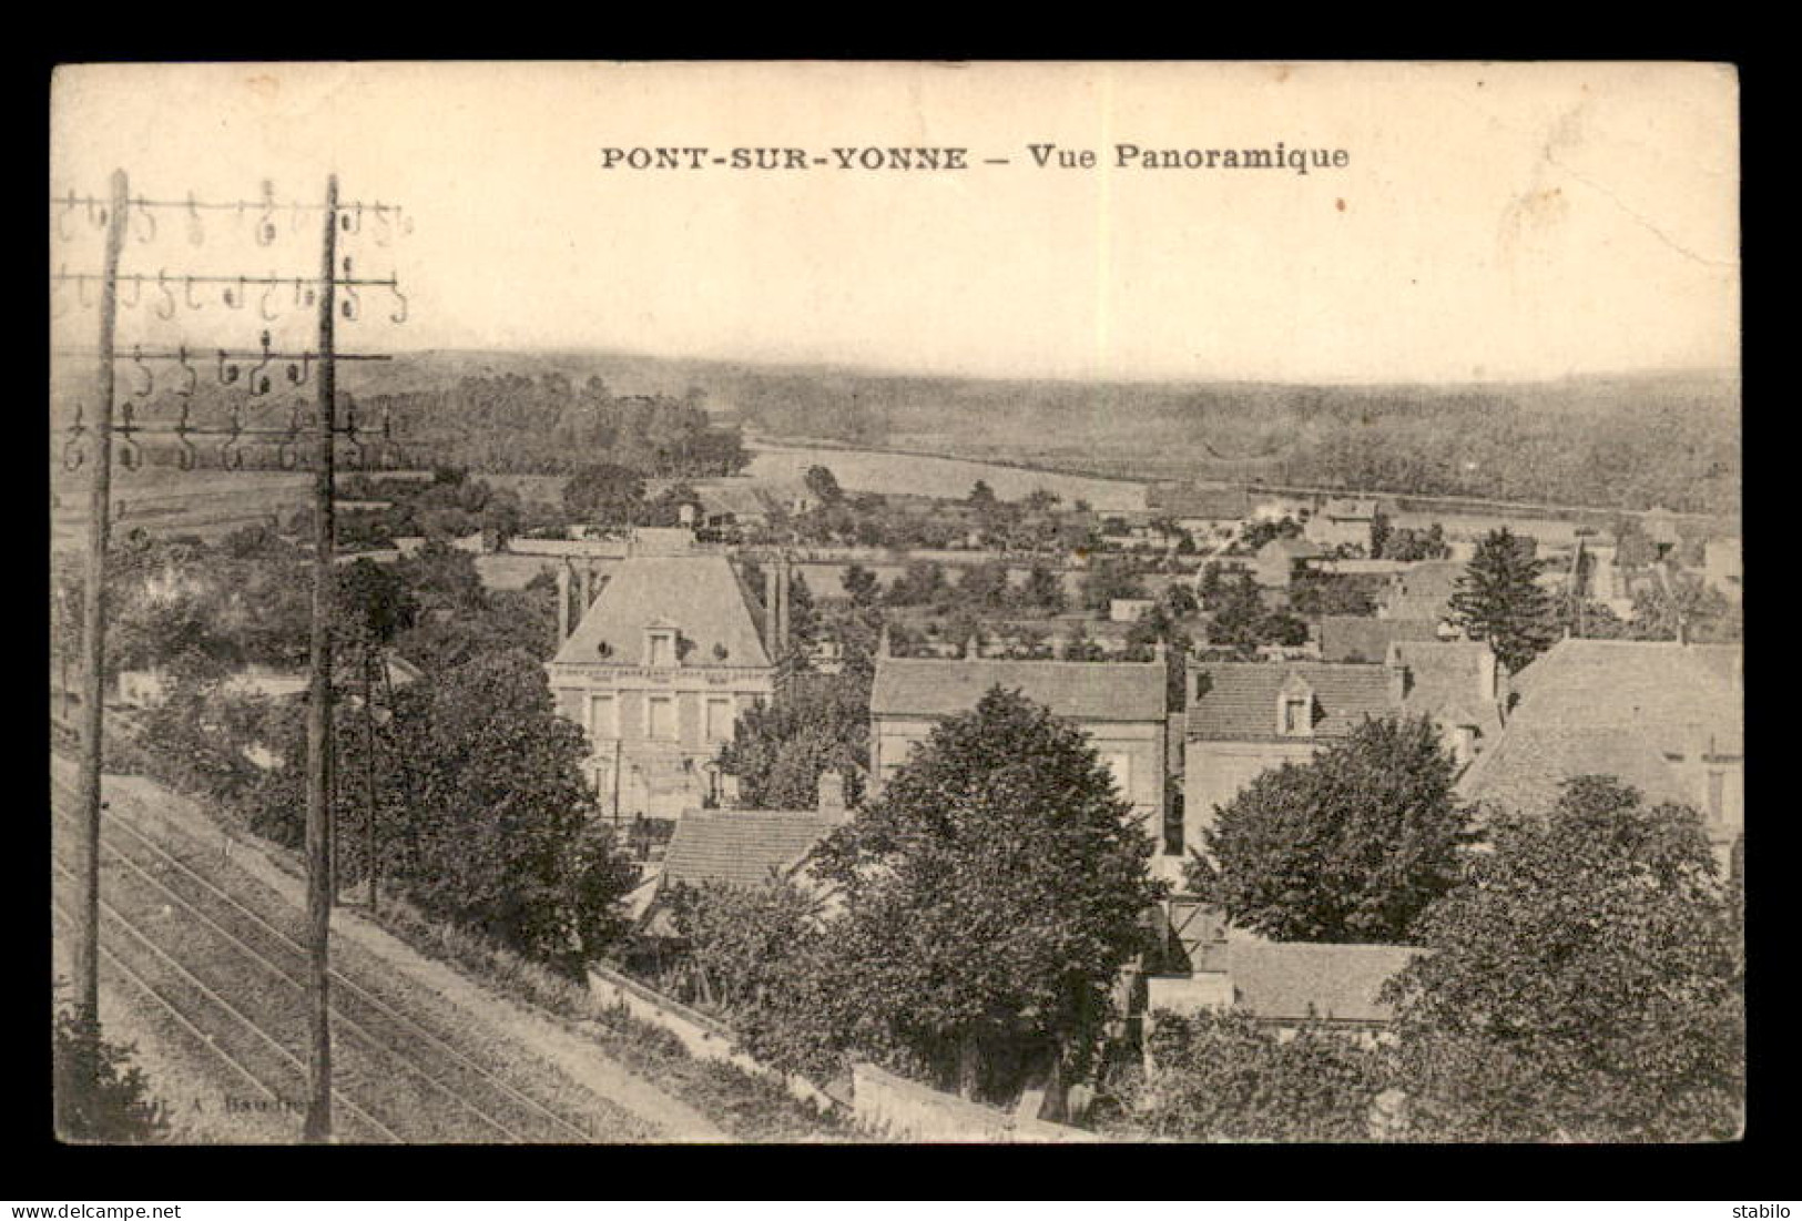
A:
<svg viewBox="0 0 1802 1221">
<path fill-rule="evenodd" d="M 1162 893 L 1151 852 L 1083 733 L 991 690 L 822 848 L 847 1041 L 966 1097 L 1085 1072 Z"/>
</svg>

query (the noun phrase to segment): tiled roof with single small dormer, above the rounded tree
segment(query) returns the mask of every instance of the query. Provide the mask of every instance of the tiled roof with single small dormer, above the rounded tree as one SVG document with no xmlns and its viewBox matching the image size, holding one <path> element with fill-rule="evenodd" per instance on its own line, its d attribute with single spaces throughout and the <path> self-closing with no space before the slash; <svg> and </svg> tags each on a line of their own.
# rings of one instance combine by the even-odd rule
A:
<svg viewBox="0 0 1802 1221">
<path fill-rule="evenodd" d="M 1388 717 L 1389 672 L 1380 665 L 1324 661 L 1222 661 L 1189 668 L 1189 738 L 1297 742 L 1278 733 L 1278 693 L 1292 677 L 1314 690 L 1314 738 L 1342 738 L 1366 717 Z M 1197 686 L 1197 675 L 1202 675 Z"/>
</svg>

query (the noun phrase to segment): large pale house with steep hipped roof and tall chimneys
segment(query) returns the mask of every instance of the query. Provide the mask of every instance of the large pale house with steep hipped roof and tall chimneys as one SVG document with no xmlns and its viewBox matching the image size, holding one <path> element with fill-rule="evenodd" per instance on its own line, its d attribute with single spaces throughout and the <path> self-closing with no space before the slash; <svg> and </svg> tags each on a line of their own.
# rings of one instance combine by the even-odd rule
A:
<svg viewBox="0 0 1802 1221">
<path fill-rule="evenodd" d="M 586 773 L 614 823 L 726 798 L 714 760 L 739 715 L 775 692 L 787 565 L 766 569 L 766 614 L 724 555 L 688 538 L 638 531 L 600 580 L 559 569 L 564 639 L 546 670 L 557 711 L 587 733 Z"/>
</svg>

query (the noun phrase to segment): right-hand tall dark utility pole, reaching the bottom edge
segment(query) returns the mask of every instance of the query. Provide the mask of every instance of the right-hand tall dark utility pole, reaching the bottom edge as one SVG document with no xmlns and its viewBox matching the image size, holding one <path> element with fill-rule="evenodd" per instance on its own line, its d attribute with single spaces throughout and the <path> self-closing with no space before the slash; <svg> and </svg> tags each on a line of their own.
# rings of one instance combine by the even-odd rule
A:
<svg viewBox="0 0 1802 1221">
<path fill-rule="evenodd" d="M 324 250 L 319 263 L 319 465 L 314 477 L 314 634 L 306 702 L 306 922 L 312 951 L 312 1057 L 305 1140 L 332 1140 L 332 562 L 333 308 L 337 303 L 337 175 L 326 180 Z"/>
</svg>

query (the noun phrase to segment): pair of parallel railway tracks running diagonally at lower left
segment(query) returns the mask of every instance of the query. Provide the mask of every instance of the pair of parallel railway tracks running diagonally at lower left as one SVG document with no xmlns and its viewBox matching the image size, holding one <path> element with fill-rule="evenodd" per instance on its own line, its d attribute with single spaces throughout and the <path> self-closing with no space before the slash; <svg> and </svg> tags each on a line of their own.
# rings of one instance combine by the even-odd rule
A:
<svg viewBox="0 0 1802 1221">
<path fill-rule="evenodd" d="M 52 783 L 65 798 L 74 796 L 59 780 Z M 59 805 L 52 801 L 56 819 L 77 830 Z M 214 1052 L 232 1061 L 236 1075 L 256 1081 L 261 1093 L 303 1099 L 305 1063 L 297 1052 L 308 1046 L 308 958 L 296 929 L 283 927 L 279 915 L 247 906 L 117 814 L 106 821 L 101 850 L 112 866 L 103 929 L 115 933 L 108 947 L 114 969 L 184 1028 L 207 1027 L 214 1041 L 225 1039 L 227 1046 L 214 1043 Z M 77 884 L 77 864 L 54 861 L 70 884 Z M 342 971 L 332 972 L 332 983 L 337 1097 L 364 1138 L 609 1138 L 593 1117 L 533 1097 L 481 1064 L 478 1052 L 458 1048 L 450 1032 L 432 1030 L 375 987 Z"/>
</svg>

